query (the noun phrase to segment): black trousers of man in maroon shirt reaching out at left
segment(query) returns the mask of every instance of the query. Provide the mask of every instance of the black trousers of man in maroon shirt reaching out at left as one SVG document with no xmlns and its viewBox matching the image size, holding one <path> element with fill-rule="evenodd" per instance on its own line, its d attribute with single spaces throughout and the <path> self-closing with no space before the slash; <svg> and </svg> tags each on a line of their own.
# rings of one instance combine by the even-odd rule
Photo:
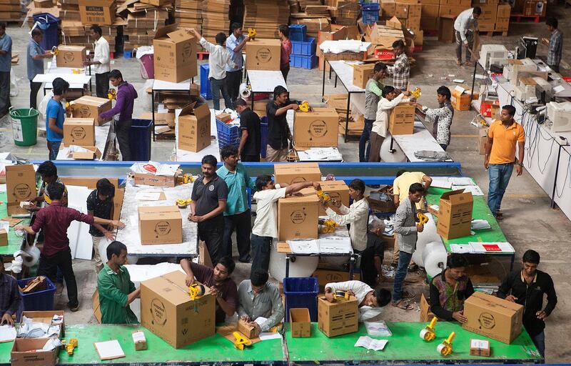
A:
<svg viewBox="0 0 571 366">
<path fill-rule="evenodd" d="M 64 279 L 66 280 L 68 305 L 69 307 L 76 307 L 79 305 L 77 300 L 77 283 L 74 267 L 71 265 L 71 249 L 69 247 L 54 255 L 46 256 L 41 254 L 38 267 L 39 276 L 47 276 L 55 282 L 58 269 L 64 274 Z"/>
</svg>

